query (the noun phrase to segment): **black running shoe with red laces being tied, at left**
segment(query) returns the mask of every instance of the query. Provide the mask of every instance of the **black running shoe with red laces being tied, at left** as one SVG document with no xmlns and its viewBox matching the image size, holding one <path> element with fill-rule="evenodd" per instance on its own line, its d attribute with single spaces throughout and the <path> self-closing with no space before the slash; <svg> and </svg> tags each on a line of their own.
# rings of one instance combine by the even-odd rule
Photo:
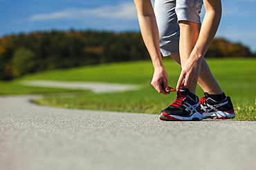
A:
<svg viewBox="0 0 256 170">
<path fill-rule="evenodd" d="M 172 91 L 173 92 L 173 91 Z M 177 98 L 169 107 L 161 110 L 159 118 L 161 120 L 202 120 L 203 115 L 200 113 L 199 98 L 193 100 L 188 96 L 189 89 L 181 88 L 177 92 Z"/>
</svg>

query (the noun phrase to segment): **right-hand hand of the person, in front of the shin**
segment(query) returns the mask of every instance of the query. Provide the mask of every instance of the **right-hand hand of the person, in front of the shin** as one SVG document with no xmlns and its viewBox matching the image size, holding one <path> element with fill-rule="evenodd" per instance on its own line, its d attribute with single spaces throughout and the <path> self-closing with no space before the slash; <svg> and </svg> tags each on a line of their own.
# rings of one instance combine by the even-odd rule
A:
<svg viewBox="0 0 256 170">
<path fill-rule="evenodd" d="M 184 65 L 182 66 L 179 81 L 176 86 L 177 91 L 179 91 L 182 83 L 184 83 L 184 87 L 188 87 L 192 85 L 192 83 L 196 83 L 200 70 L 201 60 L 193 59 L 193 57 L 190 57 L 187 61 L 185 61 Z"/>
</svg>

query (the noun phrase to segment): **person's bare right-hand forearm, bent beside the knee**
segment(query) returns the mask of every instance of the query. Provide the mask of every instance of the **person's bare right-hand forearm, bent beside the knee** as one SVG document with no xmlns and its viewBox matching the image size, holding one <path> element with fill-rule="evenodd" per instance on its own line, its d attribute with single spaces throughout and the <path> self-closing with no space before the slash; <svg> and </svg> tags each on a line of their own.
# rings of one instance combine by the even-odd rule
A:
<svg viewBox="0 0 256 170">
<path fill-rule="evenodd" d="M 199 39 L 196 41 L 196 45 L 192 51 L 192 54 L 195 54 L 198 59 L 203 59 L 221 21 L 221 1 L 215 0 L 213 3 L 211 0 L 205 0 L 204 3 L 206 10 L 205 17 L 201 25 Z"/>
</svg>

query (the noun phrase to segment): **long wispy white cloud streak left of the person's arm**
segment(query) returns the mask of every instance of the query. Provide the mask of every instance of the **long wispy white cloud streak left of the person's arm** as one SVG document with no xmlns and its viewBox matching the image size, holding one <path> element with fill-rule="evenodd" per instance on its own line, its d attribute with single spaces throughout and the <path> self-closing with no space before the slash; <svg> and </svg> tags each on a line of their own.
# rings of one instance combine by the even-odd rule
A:
<svg viewBox="0 0 256 170">
<path fill-rule="evenodd" d="M 136 20 L 134 3 L 120 3 L 117 6 L 101 6 L 98 8 L 71 8 L 48 14 L 35 14 L 29 21 L 47 21 L 56 19 L 122 19 Z"/>
</svg>

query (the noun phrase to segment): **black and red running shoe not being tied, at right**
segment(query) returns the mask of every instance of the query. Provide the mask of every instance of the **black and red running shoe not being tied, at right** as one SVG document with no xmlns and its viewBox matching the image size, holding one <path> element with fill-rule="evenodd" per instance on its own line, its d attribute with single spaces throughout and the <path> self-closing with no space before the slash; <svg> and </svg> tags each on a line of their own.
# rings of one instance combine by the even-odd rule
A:
<svg viewBox="0 0 256 170">
<path fill-rule="evenodd" d="M 235 118 L 235 112 L 230 97 L 223 101 L 215 101 L 208 93 L 201 98 L 200 105 L 203 118 L 230 119 Z"/>
</svg>

